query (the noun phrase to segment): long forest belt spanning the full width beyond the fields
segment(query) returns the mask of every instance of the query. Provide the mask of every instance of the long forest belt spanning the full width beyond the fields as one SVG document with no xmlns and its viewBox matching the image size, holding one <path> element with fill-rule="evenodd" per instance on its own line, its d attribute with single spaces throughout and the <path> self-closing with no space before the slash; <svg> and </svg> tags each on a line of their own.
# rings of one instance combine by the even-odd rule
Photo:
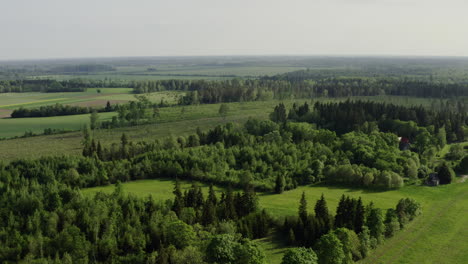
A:
<svg viewBox="0 0 468 264">
<path fill-rule="evenodd" d="M 0 92 L 69 92 L 91 87 L 127 87 L 136 94 L 166 90 L 186 91 L 182 104 L 257 101 L 268 99 L 348 97 L 348 96 L 416 96 L 448 98 L 468 96 L 466 83 L 436 81 L 309 76 L 307 71 L 264 77 L 231 80 L 17 80 L 0 81 Z"/>
</svg>

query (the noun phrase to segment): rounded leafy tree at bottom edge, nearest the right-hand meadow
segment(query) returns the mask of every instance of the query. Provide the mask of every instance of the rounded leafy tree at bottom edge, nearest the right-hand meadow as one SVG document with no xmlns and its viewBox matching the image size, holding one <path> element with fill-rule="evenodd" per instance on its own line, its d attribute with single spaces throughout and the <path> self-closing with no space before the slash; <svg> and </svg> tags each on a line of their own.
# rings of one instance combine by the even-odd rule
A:
<svg viewBox="0 0 468 264">
<path fill-rule="evenodd" d="M 320 264 L 342 264 L 345 260 L 343 244 L 334 233 L 323 235 L 317 243 Z"/>
</svg>

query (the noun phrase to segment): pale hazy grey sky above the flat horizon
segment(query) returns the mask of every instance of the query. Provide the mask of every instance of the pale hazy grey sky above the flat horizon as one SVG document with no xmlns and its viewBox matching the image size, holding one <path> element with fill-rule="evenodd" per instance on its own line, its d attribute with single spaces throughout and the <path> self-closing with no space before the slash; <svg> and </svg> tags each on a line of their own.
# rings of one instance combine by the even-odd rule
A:
<svg viewBox="0 0 468 264">
<path fill-rule="evenodd" d="M 0 60 L 468 56 L 466 0 L 0 0 Z"/>
</svg>

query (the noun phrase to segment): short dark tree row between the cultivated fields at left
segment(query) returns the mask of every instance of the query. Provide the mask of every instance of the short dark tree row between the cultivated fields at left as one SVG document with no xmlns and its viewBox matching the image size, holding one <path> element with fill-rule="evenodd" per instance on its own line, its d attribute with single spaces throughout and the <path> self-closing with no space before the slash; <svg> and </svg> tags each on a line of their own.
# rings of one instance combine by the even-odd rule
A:
<svg viewBox="0 0 468 264">
<path fill-rule="evenodd" d="M 12 118 L 23 117 L 49 117 L 49 116 L 66 116 L 66 115 L 82 115 L 89 114 L 92 111 L 96 112 L 112 112 L 115 106 L 107 102 L 105 107 L 91 108 L 84 106 L 71 106 L 63 104 L 47 105 L 38 108 L 19 108 L 13 110 L 11 113 Z"/>
</svg>

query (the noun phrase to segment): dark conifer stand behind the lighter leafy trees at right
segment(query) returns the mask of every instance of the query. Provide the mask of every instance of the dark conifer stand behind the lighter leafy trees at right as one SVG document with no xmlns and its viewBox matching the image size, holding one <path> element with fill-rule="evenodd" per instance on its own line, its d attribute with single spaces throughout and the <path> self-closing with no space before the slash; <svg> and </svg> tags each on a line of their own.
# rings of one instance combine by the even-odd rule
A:
<svg viewBox="0 0 468 264">
<path fill-rule="evenodd" d="M 464 127 L 468 124 L 468 105 L 462 102 L 452 106 L 452 109 L 447 107 L 439 111 L 422 106 L 404 107 L 370 101 L 316 102 L 313 106 L 304 103 L 294 104 L 287 117 L 286 109 L 282 108 L 284 105 L 275 108 L 273 117 L 277 121 L 284 121 L 285 118 L 305 121 L 338 134 L 366 130 L 378 125 L 382 131 L 396 133 L 412 141 L 420 134 L 417 126 L 428 128 L 431 134 L 440 134 L 443 140 L 448 142 L 464 141 L 466 136 Z"/>
</svg>

